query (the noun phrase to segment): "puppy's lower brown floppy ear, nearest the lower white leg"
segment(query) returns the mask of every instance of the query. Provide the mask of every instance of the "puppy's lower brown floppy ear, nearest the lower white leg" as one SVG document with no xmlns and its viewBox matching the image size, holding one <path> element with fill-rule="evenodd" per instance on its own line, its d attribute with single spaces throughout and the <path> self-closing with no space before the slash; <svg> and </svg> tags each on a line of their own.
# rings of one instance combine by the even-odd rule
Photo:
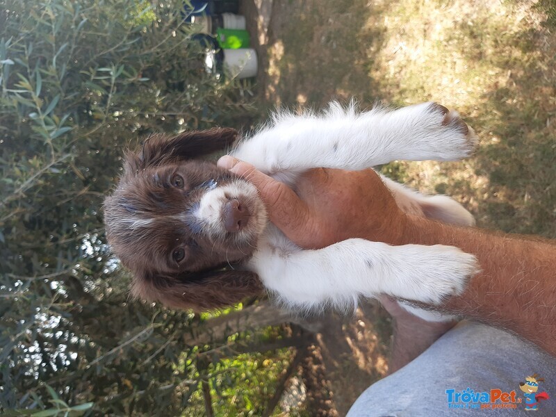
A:
<svg viewBox="0 0 556 417">
<path fill-rule="evenodd" d="M 161 277 L 151 273 L 135 277 L 131 293 L 177 309 L 207 311 L 261 295 L 263 285 L 254 272 L 214 270 Z"/>
</svg>

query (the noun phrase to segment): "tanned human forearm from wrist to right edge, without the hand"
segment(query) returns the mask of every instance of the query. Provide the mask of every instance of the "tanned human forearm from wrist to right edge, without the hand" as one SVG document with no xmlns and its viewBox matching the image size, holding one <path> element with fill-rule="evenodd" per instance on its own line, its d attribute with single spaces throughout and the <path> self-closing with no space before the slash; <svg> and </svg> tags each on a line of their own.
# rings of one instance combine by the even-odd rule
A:
<svg viewBox="0 0 556 417">
<path fill-rule="evenodd" d="M 556 245 L 409 216 L 402 243 L 453 245 L 475 254 L 482 272 L 444 308 L 500 325 L 556 354 Z"/>
</svg>

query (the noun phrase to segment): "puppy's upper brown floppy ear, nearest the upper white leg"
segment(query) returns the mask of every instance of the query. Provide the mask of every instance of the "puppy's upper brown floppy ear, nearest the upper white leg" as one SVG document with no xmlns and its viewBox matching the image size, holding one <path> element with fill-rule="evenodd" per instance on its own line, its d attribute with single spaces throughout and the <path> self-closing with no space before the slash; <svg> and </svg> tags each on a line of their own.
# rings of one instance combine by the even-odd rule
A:
<svg viewBox="0 0 556 417">
<path fill-rule="evenodd" d="M 198 158 L 225 149 L 238 137 L 238 131 L 231 128 L 215 127 L 204 131 L 185 131 L 177 136 L 152 135 L 143 144 L 138 154 L 138 167 L 145 168 Z"/>
</svg>

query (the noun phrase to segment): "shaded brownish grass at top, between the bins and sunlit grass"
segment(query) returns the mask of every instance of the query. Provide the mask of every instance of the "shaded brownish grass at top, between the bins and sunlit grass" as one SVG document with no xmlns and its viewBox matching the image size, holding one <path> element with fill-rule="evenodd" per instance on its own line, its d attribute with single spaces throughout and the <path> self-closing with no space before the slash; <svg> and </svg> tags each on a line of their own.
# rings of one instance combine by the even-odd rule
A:
<svg viewBox="0 0 556 417">
<path fill-rule="evenodd" d="M 366 26 L 372 13 L 381 10 L 366 0 L 275 1 L 259 80 L 265 99 L 295 107 L 379 98 L 368 49 L 380 49 L 384 28 Z"/>
</svg>

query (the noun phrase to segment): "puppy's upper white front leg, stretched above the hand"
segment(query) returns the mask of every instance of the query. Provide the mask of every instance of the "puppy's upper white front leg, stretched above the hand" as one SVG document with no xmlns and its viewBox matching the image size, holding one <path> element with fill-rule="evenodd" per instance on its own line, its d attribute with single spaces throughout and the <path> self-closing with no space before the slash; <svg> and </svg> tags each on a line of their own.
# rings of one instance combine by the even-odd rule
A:
<svg viewBox="0 0 556 417">
<path fill-rule="evenodd" d="M 476 141 L 455 111 L 436 103 L 364 113 L 332 103 L 322 115 L 277 115 L 233 154 L 270 174 L 361 170 L 395 159 L 455 161 L 471 155 Z"/>
</svg>

